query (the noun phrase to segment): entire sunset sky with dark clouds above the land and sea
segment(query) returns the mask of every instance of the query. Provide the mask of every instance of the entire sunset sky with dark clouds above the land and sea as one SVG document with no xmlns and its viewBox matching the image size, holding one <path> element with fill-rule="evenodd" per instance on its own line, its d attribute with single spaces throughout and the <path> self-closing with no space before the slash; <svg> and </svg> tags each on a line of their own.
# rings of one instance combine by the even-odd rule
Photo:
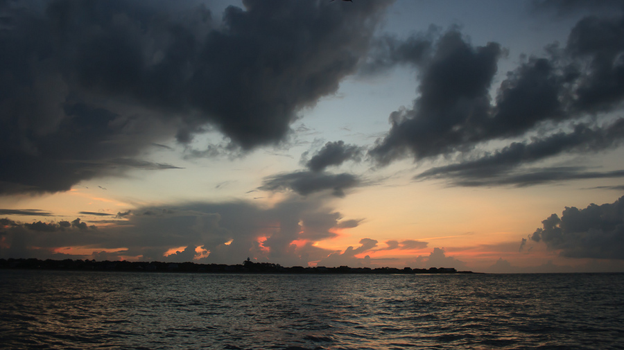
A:
<svg viewBox="0 0 624 350">
<path fill-rule="evenodd" d="M 624 6 L 0 0 L 0 258 L 624 272 Z"/>
</svg>

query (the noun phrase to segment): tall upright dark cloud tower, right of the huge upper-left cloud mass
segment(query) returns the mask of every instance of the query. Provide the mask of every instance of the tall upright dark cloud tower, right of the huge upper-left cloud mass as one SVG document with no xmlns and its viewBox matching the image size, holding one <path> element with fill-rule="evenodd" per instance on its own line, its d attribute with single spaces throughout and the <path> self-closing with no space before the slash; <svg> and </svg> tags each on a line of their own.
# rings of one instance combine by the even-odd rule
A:
<svg viewBox="0 0 624 350">
<path fill-rule="evenodd" d="M 370 154 L 381 164 L 406 154 L 422 159 L 478 137 L 476 126 L 490 110 L 488 89 L 499 55 L 498 44 L 474 48 L 456 30 L 440 37 L 422 64 L 420 97 L 412 109 L 390 114 L 392 128 Z"/>
</svg>

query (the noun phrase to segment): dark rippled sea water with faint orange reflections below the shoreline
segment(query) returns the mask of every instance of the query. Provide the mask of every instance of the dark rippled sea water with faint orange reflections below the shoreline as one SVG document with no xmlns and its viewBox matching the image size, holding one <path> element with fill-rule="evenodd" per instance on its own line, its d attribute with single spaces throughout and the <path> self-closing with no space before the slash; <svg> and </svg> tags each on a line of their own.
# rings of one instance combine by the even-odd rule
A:
<svg viewBox="0 0 624 350">
<path fill-rule="evenodd" d="M 624 274 L 0 271 L 3 349 L 624 349 Z"/>
</svg>

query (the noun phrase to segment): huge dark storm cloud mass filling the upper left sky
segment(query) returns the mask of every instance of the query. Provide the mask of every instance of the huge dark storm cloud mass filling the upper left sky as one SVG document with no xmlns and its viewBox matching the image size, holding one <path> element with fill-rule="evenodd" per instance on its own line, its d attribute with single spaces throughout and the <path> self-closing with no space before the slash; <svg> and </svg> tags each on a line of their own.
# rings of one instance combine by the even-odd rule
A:
<svg viewBox="0 0 624 350">
<path fill-rule="evenodd" d="M 356 70 L 390 2 L 245 0 L 216 26 L 192 2 L 15 1 L 0 31 L 0 193 L 172 168 L 136 159 L 206 125 L 243 150 L 278 143 Z"/>
</svg>

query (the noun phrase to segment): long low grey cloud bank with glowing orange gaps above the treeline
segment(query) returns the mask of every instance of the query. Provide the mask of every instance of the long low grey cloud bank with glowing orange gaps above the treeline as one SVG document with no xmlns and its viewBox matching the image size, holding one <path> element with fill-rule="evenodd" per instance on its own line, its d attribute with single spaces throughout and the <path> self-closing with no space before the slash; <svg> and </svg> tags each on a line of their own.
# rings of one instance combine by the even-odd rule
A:
<svg viewBox="0 0 624 350">
<path fill-rule="evenodd" d="M 189 202 L 166 208 L 137 208 L 124 219 L 124 225 L 97 229 L 89 228 L 80 218 L 32 224 L 0 219 L 0 256 L 47 259 L 46 254 L 59 247 L 79 246 L 92 247 L 94 254 L 99 254 L 96 256 L 123 248 L 124 256 L 163 261 L 165 252 L 183 247 L 166 260 L 189 261 L 200 247 L 210 252 L 200 262 L 241 263 L 250 256 L 283 265 L 307 265 L 333 252 L 312 243 L 336 236 L 331 231 L 340 222 L 350 221 L 342 220 L 340 213 L 314 198 L 290 198 L 270 208 L 249 202 Z M 308 243 L 297 247 L 295 240 Z"/>
</svg>

